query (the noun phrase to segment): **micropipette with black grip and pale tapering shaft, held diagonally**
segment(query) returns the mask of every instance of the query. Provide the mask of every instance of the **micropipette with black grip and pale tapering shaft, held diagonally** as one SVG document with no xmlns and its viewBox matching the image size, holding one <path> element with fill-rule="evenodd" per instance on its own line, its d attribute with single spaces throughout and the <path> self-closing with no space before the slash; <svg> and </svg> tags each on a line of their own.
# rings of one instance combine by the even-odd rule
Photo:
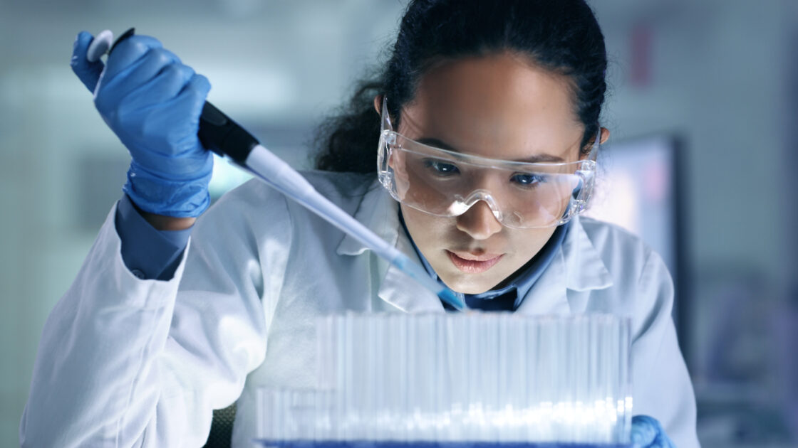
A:
<svg viewBox="0 0 798 448">
<path fill-rule="evenodd" d="M 109 37 L 110 31 L 103 31 L 97 35 L 98 37 L 103 36 L 103 41 L 98 43 L 95 48 L 89 45 L 89 50 L 92 51 L 88 53 L 91 53 L 95 57 L 94 61 L 97 61 L 105 53 L 105 48 L 109 48 L 108 52 L 110 53 L 120 41 L 132 36 L 133 33 L 132 28 L 128 29 L 109 47 L 107 42 L 111 41 L 113 37 Z M 283 195 L 294 199 L 346 234 L 350 234 L 374 253 L 389 261 L 391 265 L 396 266 L 397 269 L 435 293 L 442 301 L 456 309 L 465 308 L 464 301 L 460 300 L 451 289 L 434 281 L 421 265 L 413 263 L 404 253 L 389 245 L 361 222 L 322 196 L 298 171 L 261 146 L 254 136 L 207 101 L 202 115 L 199 117 L 198 136 L 205 148 L 231 159 L 235 165 L 255 175 Z"/>
</svg>

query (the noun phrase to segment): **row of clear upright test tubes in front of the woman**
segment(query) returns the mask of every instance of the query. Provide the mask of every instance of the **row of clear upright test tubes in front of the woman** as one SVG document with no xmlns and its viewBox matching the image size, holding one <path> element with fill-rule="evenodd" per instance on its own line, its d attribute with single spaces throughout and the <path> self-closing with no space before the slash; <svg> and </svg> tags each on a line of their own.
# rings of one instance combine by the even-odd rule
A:
<svg viewBox="0 0 798 448">
<path fill-rule="evenodd" d="M 317 341 L 318 388 L 260 390 L 259 438 L 629 438 L 627 318 L 350 313 L 318 320 Z"/>
</svg>

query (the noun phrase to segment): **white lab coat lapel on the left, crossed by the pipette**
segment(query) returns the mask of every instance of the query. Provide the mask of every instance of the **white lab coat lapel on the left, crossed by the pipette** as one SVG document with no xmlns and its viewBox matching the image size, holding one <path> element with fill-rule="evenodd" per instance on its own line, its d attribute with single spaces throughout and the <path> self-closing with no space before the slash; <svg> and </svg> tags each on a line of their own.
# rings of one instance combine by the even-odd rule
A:
<svg viewBox="0 0 798 448">
<path fill-rule="evenodd" d="M 369 191 L 355 211 L 354 218 L 380 238 L 397 247 L 410 257 L 413 262 L 421 264 L 416 250 L 407 238 L 399 223 L 397 202 L 387 191 L 374 181 Z M 344 236 L 338 245 L 338 254 L 357 256 L 369 251 L 369 248 L 350 235 Z M 377 257 L 376 254 L 372 254 Z M 379 258 L 377 260 L 377 278 L 381 278 L 377 292 L 383 301 L 405 312 L 444 312 L 440 299 L 423 286 L 413 281 L 395 266 Z"/>
</svg>

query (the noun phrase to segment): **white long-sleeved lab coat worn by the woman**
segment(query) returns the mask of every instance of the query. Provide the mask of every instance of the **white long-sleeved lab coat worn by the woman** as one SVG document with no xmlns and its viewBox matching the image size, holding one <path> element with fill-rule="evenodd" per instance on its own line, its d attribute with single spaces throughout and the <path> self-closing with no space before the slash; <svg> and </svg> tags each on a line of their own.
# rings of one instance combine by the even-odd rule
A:
<svg viewBox="0 0 798 448">
<path fill-rule="evenodd" d="M 397 203 L 373 176 L 311 172 L 318 191 L 417 259 Z M 23 446 L 202 446 L 211 410 L 238 400 L 233 446 L 255 436 L 255 391 L 315 380 L 314 318 L 444 312 L 361 243 L 251 181 L 200 218 L 171 281 L 140 280 L 112 210 L 41 337 Z M 517 312 L 633 319 L 634 413 L 697 446 L 695 400 L 662 259 L 638 238 L 575 219 Z"/>
</svg>

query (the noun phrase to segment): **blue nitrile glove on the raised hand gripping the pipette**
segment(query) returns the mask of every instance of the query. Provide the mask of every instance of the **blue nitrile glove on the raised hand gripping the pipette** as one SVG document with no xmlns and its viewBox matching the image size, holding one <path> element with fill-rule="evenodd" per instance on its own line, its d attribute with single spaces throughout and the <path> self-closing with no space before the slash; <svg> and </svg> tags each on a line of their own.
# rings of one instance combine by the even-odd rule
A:
<svg viewBox="0 0 798 448">
<path fill-rule="evenodd" d="M 152 37 L 121 41 L 105 66 L 86 61 L 92 40 L 85 31 L 77 35 L 70 65 L 130 151 L 124 192 L 150 213 L 199 216 L 210 204 L 213 157 L 197 130 L 211 84 Z"/>
</svg>

